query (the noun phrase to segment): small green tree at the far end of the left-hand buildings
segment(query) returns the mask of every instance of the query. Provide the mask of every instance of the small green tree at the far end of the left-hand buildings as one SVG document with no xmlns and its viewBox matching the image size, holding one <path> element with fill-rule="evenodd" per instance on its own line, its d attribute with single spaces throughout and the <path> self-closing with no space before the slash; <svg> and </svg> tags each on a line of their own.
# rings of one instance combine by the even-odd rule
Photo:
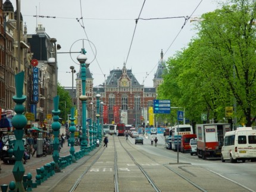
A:
<svg viewBox="0 0 256 192">
<path fill-rule="evenodd" d="M 60 83 L 58 83 L 57 92 L 60 96 L 59 109 L 61 113 L 59 116 L 63 119 L 63 122 L 65 122 L 67 121 L 67 115 L 70 114 L 70 109 L 72 107 L 71 97 L 68 91 L 66 91 Z"/>
</svg>

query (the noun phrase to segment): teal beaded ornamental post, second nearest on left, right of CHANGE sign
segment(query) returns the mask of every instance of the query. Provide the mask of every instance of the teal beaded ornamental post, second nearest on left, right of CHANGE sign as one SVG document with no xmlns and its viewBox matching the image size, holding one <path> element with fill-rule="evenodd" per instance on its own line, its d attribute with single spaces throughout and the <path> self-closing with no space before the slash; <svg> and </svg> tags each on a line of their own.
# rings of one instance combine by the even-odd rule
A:
<svg viewBox="0 0 256 192">
<path fill-rule="evenodd" d="M 58 147 L 60 145 L 60 141 L 59 141 L 59 134 L 60 134 L 60 128 L 61 128 L 61 124 L 59 122 L 60 117 L 58 116 L 58 114 L 60 114 L 60 109 L 58 109 L 59 107 L 59 99 L 60 96 L 55 96 L 54 97 L 54 110 L 52 110 L 52 114 L 54 115 L 53 120 L 54 122 L 52 122 L 52 130 L 54 131 L 54 153 L 52 153 L 52 159 L 54 159 L 55 162 L 55 171 L 56 172 L 60 172 L 60 165 L 58 164 L 59 159 L 60 159 L 60 154 L 59 154 L 59 150 Z"/>
</svg>

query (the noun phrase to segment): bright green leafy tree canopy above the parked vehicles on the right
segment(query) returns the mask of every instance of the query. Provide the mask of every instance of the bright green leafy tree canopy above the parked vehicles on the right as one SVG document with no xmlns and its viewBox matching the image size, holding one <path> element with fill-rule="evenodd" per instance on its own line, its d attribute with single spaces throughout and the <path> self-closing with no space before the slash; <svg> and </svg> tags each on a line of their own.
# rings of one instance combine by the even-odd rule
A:
<svg viewBox="0 0 256 192">
<path fill-rule="evenodd" d="M 186 118 L 196 122 L 201 114 L 223 119 L 225 107 L 235 99 L 236 117 L 251 126 L 256 112 L 255 16 L 256 2 L 250 0 L 232 0 L 202 15 L 196 23 L 198 37 L 168 59 L 158 99 L 183 106 Z"/>
</svg>

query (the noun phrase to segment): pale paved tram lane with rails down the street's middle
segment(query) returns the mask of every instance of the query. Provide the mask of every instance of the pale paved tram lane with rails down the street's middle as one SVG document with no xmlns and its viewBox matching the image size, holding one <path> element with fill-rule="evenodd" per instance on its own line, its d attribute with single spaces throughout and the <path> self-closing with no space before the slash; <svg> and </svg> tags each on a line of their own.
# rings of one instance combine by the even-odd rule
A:
<svg viewBox="0 0 256 192">
<path fill-rule="evenodd" d="M 98 189 L 93 191 L 135 191 L 141 187 L 143 191 L 180 191 L 179 188 L 170 188 L 170 182 L 172 185 L 178 182 L 179 187 L 186 186 L 192 191 L 212 191 L 199 179 L 196 169 L 204 171 L 203 168 L 182 163 L 170 165 L 166 160 L 168 158 L 139 150 L 124 137 L 112 136 L 107 149 L 99 149 L 79 166 L 77 180 L 69 191 L 83 191 L 85 184 L 89 187 L 93 182 Z M 243 188 L 241 191 L 248 190 Z"/>
</svg>

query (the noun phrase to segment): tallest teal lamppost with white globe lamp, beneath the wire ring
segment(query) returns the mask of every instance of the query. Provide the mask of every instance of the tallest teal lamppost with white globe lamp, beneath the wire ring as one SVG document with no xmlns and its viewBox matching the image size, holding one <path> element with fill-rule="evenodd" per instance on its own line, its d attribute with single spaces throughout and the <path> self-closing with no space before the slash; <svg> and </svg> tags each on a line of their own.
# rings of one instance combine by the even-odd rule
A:
<svg viewBox="0 0 256 192">
<path fill-rule="evenodd" d="M 88 136 L 86 131 L 86 101 L 88 100 L 88 97 L 86 96 L 86 68 L 88 68 L 90 64 L 85 64 L 87 57 L 85 56 L 86 51 L 84 49 L 82 50 L 82 53 L 77 56 L 77 61 L 79 61 L 81 65 L 82 78 L 82 95 L 80 95 L 79 97 L 79 99 L 82 101 L 82 138 L 80 149 L 85 151 L 84 155 L 88 155 L 89 147 Z"/>
</svg>

